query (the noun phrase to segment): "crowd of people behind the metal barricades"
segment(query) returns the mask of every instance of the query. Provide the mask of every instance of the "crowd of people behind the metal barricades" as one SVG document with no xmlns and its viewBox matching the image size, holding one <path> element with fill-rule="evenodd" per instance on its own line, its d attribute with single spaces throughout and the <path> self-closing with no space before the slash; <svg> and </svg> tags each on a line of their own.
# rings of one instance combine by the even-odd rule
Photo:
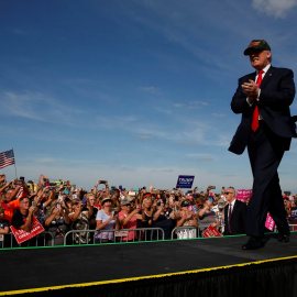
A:
<svg viewBox="0 0 297 297">
<path fill-rule="evenodd" d="M 233 187 L 222 188 L 216 195 L 213 188 L 209 186 L 205 193 L 197 187 L 187 191 L 161 190 L 152 185 L 147 189 L 128 190 L 109 187 L 108 180 L 98 180 L 94 188 L 86 190 L 66 182 L 51 183 L 44 175 L 36 184 L 24 178 L 7 182 L 1 175 L 0 248 L 19 246 L 6 240 L 11 237 L 10 227 L 30 232 L 33 220 L 51 233 L 45 245 L 63 245 L 70 230 L 67 244 L 163 239 L 158 230 L 165 240 L 197 238 L 209 227 L 222 235 L 244 233 L 249 200 L 237 200 Z M 292 222 L 297 222 L 296 198 L 284 196 Z"/>
</svg>

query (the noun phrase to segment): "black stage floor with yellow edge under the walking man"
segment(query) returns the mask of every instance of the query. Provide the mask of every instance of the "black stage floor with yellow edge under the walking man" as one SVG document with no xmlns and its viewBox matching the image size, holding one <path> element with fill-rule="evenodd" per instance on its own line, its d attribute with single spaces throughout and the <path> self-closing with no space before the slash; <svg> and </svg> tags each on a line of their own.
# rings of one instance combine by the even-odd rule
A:
<svg viewBox="0 0 297 297">
<path fill-rule="evenodd" d="M 276 237 L 253 251 L 241 250 L 246 237 L 0 250 L 0 296 L 297 257 L 297 233 Z"/>
</svg>

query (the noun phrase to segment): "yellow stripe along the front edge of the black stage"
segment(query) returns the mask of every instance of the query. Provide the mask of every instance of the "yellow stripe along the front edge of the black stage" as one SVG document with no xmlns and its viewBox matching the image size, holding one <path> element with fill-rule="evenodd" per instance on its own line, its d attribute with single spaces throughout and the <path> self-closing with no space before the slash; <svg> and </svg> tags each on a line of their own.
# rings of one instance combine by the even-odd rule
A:
<svg viewBox="0 0 297 297">
<path fill-rule="evenodd" d="M 252 264 L 263 264 L 263 263 L 268 263 L 268 262 L 284 261 L 284 260 L 292 260 L 292 258 L 297 258 L 297 256 L 278 257 L 278 258 L 271 258 L 271 260 L 265 260 L 265 261 L 256 261 L 256 262 L 249 262 L 249 263 L 242 263 L 242 264 L 235 264 L 235 265 L 219 266 L 219 267 L 211 267 L 211 268 L 196 270 L 196 271 L 177 272 L 177 273 L 168 273 L 168 274 L 147 275 L 147 276 L 140 276 L 140 277 L 120 278 L 120 279 L 111 279 L 111 280 L 102 280 L 102 282 L 64 285 L 64 286 L 53 286 L 53 287 L 20 289 L 20 290 L 8 290 L 8 292 L 1 292 L 0 296 L 18 295 L 18 294 L 25 294 L 25 293 L 37 293 L 37 292 L 46 292 L 46 290 L 55 290 L 55 289 L 64 289 L 64 288 L 119 284 L 119 283 L 124 283 L 124 282 L 135 282 L 135 280 L 143 280 L 143 279 L 150 279 L 150 278 L 161 278 L 161 277 L 175 276 L 175 275 L 185 275 L 185 274 L 211 272 L 211 271 L 217 271 L 217 270 L 227 270 L 227 268 L 232 268 L 232 267 L 243 267 L 243 266 L 248 266 L 248 265 L 252 265 Z"/>
</svg>

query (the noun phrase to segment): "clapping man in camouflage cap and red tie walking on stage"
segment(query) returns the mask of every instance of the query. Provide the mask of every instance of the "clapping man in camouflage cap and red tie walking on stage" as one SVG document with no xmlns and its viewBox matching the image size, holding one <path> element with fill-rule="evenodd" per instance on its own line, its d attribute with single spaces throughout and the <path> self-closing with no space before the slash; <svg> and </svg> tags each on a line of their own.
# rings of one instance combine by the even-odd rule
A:
<svg viewBox="0 0 297 297">
<path fill-rule="evenodd" d="M 289 110 L 295 97 L 293 72 L 271 66 L 271 47 L 264 40 L 252 41 L 244 55 L 256 73 L 239 79 L 232 98 L 231 109 L 242 118 L 229 151 L 242 154 L 248 146 L 254 182 L 246 218 L 250 239 L 242 249 L 251 250 L 264 245 L 267 211 L 277 226 L 278 240 L 289 241 L 277 168 L 297 134 Z"/>
</svg>

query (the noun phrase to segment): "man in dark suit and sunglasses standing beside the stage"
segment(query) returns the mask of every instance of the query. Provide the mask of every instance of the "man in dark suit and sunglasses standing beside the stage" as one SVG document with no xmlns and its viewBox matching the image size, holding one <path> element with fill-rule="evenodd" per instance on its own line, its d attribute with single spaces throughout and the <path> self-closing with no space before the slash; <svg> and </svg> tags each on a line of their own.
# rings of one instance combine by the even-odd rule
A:
<svg viewBox="0 0 297 297">
<path fill-rule="evenodd" d="M 235 235 L 245 233 L 246 205 L 235 198 L 235 189 L 229 187 L 224 197 L 228 206 L 224 207 L 224 235 Z"/>
</svg>

